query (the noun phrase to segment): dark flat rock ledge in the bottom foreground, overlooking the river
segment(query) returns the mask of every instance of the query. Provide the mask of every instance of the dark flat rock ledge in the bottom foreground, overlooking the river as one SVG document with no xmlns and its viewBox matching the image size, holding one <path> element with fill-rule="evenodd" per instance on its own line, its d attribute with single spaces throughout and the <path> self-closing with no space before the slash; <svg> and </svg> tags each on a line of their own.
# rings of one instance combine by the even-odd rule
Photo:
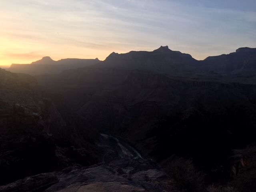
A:
<svg viewBox="0 0 256 192">
<path fill-rule="evenodd" d="M 116 159 L 90 167 L 71 166 L 62 171 L 31 176 L 1 186 L 0 192 L 164 192 L 168 176 L 152 160 Z M 171 190 L 169 190 L 171 189 Z"/>
</svg>

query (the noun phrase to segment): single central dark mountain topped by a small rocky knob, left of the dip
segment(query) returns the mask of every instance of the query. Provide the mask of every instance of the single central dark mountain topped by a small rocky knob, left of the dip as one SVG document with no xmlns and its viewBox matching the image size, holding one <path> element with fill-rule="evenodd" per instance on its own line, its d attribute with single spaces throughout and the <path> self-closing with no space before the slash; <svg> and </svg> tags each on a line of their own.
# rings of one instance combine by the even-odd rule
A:
<svg viewBox="0 0 256 192">
<path fill-rule="evenodd" d="M 194 68 L 197 60 L 189 54 L 172 51 L 168 46 L 148 51 L 131 51 L 125 54 L 113 52 L 101 64 L 102 67 L 124 69 L 146 69 L 165 74 L 176 74 L 179 70 Z"/>
</svg>

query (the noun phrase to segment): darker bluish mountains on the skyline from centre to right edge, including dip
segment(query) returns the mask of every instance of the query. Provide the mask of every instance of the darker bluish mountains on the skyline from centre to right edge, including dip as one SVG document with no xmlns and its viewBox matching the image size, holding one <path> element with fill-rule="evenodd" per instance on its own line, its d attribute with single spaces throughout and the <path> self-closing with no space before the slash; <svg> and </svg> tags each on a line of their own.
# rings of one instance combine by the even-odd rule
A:
<svg viewBox="0 0 256 192">
<path fill-rule="evenodd" d="M 161 46 L 152 51 L 131 51 L 110 54 L 101 66 L 126 69 L 147 69 L 170 75 L 216 74 L 222 76 L 253 76 L 256 73 L 256 48 L 238 48 L 236 52 L 196 60 L 189 54 Z"/>
</svg>

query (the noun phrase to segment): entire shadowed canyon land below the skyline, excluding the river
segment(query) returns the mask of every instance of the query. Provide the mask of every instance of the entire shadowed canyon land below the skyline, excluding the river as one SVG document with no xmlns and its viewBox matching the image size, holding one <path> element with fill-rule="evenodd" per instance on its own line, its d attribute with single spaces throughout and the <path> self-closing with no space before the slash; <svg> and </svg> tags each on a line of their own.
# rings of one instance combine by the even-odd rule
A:
<svg viewBox="0 0 256 192">
<path fill-rule="evenodd" d="M 2 191 L 14 191 L 12 182 L 45 172 L 54 182 L 52 188 L 42 184 L 41 191 L 64 190 L 71 178 L 74 191 L 90 185 L 182 191 L 175 179 L 167 182 L 177 158 L 192 159 L 206 184 L 252 191 L 255 184 L 248 189 L 241 180 L 255 177 L 256 48 L 198 61 L 161 46 L 152 52 L 113 52 L 93 62 L 40 72 L 40 65 L 48 70 L 56 65 L 46 57 L 0 71 Z M 121 158 L 103 130 L 125 140 L 142 159 Z M 239 163 L 244 156 L 250 166 Z M 91 171 L 111 176 L 79 180 Z M 76 173 L 68 177 L 71 172 Z"/>
</svg>

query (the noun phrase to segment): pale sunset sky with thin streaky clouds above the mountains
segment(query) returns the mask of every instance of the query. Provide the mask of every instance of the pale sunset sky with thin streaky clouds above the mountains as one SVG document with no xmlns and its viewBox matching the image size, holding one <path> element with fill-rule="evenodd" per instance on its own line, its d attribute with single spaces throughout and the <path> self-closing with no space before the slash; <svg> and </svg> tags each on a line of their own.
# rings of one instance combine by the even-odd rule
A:
<svg viewBox="0 0 256 192">
<path fill-rule="evenodd" d="M 0 0 L 0 67 L 166 45 L 197 60 L 256 48 L 256 0 Z"/>
</svg>

